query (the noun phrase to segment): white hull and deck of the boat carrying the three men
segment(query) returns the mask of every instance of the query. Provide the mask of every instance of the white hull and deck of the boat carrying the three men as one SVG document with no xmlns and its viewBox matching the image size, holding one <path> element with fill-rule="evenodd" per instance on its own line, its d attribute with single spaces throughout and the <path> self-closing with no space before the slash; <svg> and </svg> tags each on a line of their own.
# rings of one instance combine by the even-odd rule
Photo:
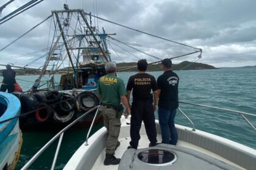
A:
<svg viewBox="0 0 256 170">
<path fill-rule="evenodd" d="M 121 146 L 116 150 L 116 157 L 121 157 L 127 150 L 130 141 L 130 126 L 122 120 L 119 141 Z M 157 134 L 158 141 L 161 141 L 160 126 L 158 121 Z M 236 143 L 226 138 L 218 137 L 203 131 L 188 131 L 189 127 L 177 125 L 179 141 L 177 146 L 193 149 L 194 151 L 207 154 L 214 159 L 232 165 L 239 169 L 254 169 L 256 167 L 255 149 Z M 146 137 L 144 126 L 141 126 L 141 140 L 139 148 L 147 148 L 149 141 Z M 88 146 L 85 143 L 74 153 L 64 169 L 118 169 L 118 165 L 104 166 L 105 141 L 107 140 L 107 131 L 105 127 L 99 129 L 88 139 Z M 188 168 L 189 169 L 189 168 Z"/>
</svg>

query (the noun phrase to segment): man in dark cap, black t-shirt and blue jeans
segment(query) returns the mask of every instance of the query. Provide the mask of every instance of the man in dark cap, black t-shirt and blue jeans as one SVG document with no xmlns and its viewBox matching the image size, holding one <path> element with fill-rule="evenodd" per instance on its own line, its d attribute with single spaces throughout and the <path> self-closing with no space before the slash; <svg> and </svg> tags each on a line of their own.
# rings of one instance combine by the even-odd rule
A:
<svg viewBox="0 0 256 170">
<path fill-rule="evenodd" d="M 178 135 L 174 125 L 176 109 L 179 107 L 179 77 L 171 70 L 171 60 L 162 60 L 164 73 L 157 79 L 158 86 L 158 120 L 161 127 L 162 143 L 177 144 Z M 171 134 L 171 140 L 170 136 Z"/>
</svg>

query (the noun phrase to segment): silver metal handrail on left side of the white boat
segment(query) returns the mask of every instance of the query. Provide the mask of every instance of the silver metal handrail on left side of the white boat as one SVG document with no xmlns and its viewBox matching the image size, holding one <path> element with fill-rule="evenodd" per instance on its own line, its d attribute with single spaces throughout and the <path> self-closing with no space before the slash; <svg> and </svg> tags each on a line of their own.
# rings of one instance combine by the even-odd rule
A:
<svg viewBox="0 0 256 170">
<path fill-rule="evenodd" d="M 24 170 L 24 169 L 29 168 L 29 166 L 32 165 L 32 163 L 39 157 L 39 155 L 41 155 L 41 153 L 43 153 L 43 151 L 44 151 L 46 148 L 48 148 L 48 147 L 52 144 L 52 142 L 54 142 L 58 137 L 60 137 L 60 135 L 63 136 L 64 132 L 65 132 L 66 130 L 68 130 L 69 127 L 73 126 L 74 124 L 77 123 L 77 121 L 79 121 L 80 119 L 84 118 L 86 115 L 90 114 L 91 112 L 93 112 L 95 109 L 98 109 L 98 108 L 99 108 L 99 106 L 93 107 L 93 109 L 88 110 L 88 112 L 86 112 L 85 114 L 81 115 L 79 118 L 77 118 L 76 120 L 74 120 L 72 123 L 68 124 L 68 126 L 66 126 L 64 129 L 62 129 L 62 131 L 60 131 L 60 132 L 59 132 L 58 134 L 56 134 L 53 138 L 51 138 L 51 140 L 49 140 L 48 143 L 44 144 L 44 146 L 43 146 L 32 158 L 30 158 L 30 160 L 26 163 L 26 165 L 24 165 L 23 168 L 21 168 L 21 170 Z M 59 143 L 61 144 L 62 140 L 59 140 L 59 141 L 60 141 Z M 56 150 L 57 152 L 59 152 L 59 149 L 60 149 L 60 144 L 59 144 L 59 143 L 58 143 L 57 150 Z M 58 149 L 58 148 L 59 148 L 59 149 Z M 57 155 L 58 155 L 58 154 L 55 153 L 56 158 L 57 158 Z M 54 158 L 55 158 L 55 156 L 54 156 Z M 55 163 L 53 162 L 52 165 L 54 165 L 54 164 L 55 164 Z M 54 165 L 54 166 L 55 166 L 55 165 Z M 52 167 L 52 168 L 54 169 L 54 167 Z M 52 169 L 52 168 L 51 168 L 51 169 Z"/>
</svg>

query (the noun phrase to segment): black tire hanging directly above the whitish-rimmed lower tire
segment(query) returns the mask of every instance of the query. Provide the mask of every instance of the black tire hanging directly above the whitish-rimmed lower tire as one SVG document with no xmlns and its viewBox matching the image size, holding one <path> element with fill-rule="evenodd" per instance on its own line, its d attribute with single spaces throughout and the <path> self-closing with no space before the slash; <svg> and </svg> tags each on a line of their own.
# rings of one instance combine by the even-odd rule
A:
<svg viewBox="0 0 256 170">
<path fill-rule="evenodd" d="M 62 98 L 60 99 L 60 103 L 57 107 L 63 112 L 71 112 L 74 110 L 76 100 L 74 97 L 69 94 L 62 94 Z"/>
</svg>

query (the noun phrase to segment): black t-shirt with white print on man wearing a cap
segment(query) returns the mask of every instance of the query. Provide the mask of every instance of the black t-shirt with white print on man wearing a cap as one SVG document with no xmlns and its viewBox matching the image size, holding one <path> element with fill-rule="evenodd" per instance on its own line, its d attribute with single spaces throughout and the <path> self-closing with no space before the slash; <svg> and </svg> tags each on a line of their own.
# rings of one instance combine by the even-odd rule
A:
<svg viewBox="0 0 256 170">
<path fill-rule="evenodd" d="M 163 109 L 177 109 L 179 107 L 179 77 L 172 70 L 164 72 L 157 78 L 158 89 L 161 90 L 158 106 Z"/>
</svg>

